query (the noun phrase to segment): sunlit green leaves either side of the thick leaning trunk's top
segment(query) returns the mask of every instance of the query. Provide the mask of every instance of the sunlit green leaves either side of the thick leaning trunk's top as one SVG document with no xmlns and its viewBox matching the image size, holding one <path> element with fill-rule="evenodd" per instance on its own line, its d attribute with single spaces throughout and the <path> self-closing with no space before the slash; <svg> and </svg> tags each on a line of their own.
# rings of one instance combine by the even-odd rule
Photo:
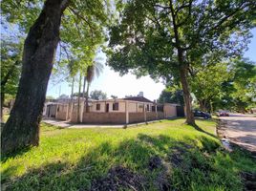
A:
<svg viewBox="0 0 256 191">
<path fill-rule="evenodd" d="M 27 33 L 42 10 L 42 1 L 1 1 L 1 11 L 7 21 Z M 15 11 L 13 11 L 15 10 Z M 61 19 L 58 61 L 54 64 L 55 73 L 72 76 L 86 74 L 92 65 L 96 51 L 106 38 L 105 27 L 113 17 L 109 1 L 93 2 L 70 0 Z M 67 76 L 66 76 L 67 77 Z"/>
</svg>

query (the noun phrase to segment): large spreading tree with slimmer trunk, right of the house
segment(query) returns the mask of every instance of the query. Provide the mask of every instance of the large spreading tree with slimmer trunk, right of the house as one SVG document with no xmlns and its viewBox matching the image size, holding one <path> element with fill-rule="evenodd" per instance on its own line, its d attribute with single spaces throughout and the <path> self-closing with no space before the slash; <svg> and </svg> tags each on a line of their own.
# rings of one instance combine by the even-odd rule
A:
<svg viewBox="0 0 256 191">
<path fill-rule="evenodd" d="M 129 0 L 117 4 L 111 27 L 109 65 L 120 74 L 181 81 L 186 123 L 195 125 L 188 75 L 207 53 L 243 50 L 253 27 L 253 0 Z M 229 53 L 229 54 L 228 54 Z"/>
</svg>

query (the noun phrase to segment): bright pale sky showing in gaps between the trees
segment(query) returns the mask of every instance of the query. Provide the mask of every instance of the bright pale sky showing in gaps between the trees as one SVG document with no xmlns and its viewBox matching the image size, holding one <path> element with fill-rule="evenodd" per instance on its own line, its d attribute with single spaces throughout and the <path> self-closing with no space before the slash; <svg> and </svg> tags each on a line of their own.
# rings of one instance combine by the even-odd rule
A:
<svg viewBox="0 0 256 191">
<path fill-rule="evenodd" d="M 256 62 L 256 29 L 252 30 L 253 37 L 248 45 L 248 50 L 245 52 L 245 57 L 251 61 Z M 103 57 L 102 63 L 105 65 L 106 56 Z M 158 99 L 160 92 L 165 88 L 162 83 L 157 83 L 150 76 L 143 76 L 137 79 L 134 74 L 125 74 L 119 76 L 118 73 L 111 70 L 108 66 L 104 66 L 103 73 L 100 74 L 92 82 L 90 92 L 93 90 L 101 90 L 106 93 L 108 97 L 117 96 L 118 98 L 124 96 L 137 96 L 139 92 L 151 100 Z M 75 85 L 75 92 L 78 92 L 78 85 Z M 47 90 L 47 96 L 58 97 L 60 95 L 71 95 L 71 87 L 67 82 L 54 84 L 50 80 Z"/>
</svg>

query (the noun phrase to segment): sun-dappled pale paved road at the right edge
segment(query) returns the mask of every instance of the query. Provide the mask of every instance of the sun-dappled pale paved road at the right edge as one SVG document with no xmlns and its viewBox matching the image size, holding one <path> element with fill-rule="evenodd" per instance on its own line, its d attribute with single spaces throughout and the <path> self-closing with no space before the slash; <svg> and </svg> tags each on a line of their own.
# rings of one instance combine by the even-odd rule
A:
<svg viewBox="0 0 256 191">
<path fill-rule="evenodd" d="M 230 114 L 220 117 L 223 121 L 223 136 L 245 149 L 256 152 L 256 117 L 252 115 Z"/>
</svg>

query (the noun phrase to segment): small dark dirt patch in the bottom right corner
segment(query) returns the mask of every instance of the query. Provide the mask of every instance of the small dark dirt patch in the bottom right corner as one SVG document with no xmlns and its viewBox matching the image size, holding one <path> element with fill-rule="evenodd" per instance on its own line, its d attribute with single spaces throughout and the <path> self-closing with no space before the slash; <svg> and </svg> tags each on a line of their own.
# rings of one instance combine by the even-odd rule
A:
<svg viewBox="0 0 256 191">
<path fill-rule="evenodd" d="M 245 191 L 256 190 L 256 173 L 242 172 L 240 175 L 245 184 Z"/>
</svg>

